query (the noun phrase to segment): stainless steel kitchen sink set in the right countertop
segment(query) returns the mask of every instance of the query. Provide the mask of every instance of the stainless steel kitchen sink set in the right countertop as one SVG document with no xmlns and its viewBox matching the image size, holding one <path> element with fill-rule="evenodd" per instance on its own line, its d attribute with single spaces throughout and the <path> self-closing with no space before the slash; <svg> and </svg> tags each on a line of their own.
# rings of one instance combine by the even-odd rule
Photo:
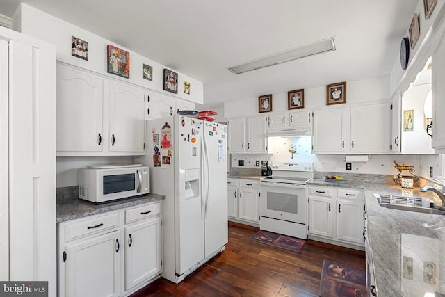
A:
<svg viewBox="0 0 445 297">
<path fill-rule="evenodd" d="M 434 202 L 426 198 L 406 197 L 398 195 L 374 194 L 378 204 L 388 209 L 414 211 L 423 214 L 441 214 L 445 211 L 434 208 Z"/>
</svg>

